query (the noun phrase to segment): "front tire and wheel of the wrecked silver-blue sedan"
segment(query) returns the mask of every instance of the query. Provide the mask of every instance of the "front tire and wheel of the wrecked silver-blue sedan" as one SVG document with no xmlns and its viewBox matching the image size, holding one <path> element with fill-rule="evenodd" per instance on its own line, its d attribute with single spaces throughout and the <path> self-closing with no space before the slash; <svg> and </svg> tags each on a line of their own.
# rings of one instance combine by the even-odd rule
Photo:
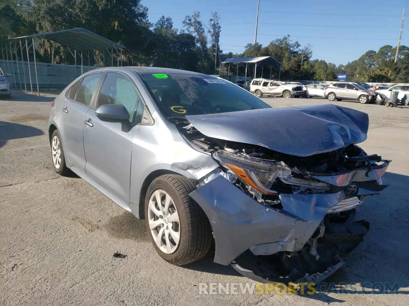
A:
<svg viewBox="0 0 409 306">
<path fill-rule="evenodd" d="M 148 188 L 145 224 L 157 253 L 182 266 L 204 257 L 213 242 L 211 226 L 189 193 L 195 184 L 182 175 L 162 175 Z"/>
</svg>

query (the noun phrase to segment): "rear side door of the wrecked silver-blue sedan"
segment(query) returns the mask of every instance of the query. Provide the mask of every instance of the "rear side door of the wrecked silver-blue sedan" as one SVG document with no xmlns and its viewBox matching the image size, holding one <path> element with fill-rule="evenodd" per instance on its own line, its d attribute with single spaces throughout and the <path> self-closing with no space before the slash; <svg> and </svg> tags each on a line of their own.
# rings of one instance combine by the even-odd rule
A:
<svg viewBox="0 0 409 306">
<path fill-rule="evenodd" d="M 85 171 L 83 125 L 85 113 L 91 109 L 92 97 L 104 73 L 92 73 L 77 81 L 62 103 L 61 137 L 65 158 Z"/>
</svg>

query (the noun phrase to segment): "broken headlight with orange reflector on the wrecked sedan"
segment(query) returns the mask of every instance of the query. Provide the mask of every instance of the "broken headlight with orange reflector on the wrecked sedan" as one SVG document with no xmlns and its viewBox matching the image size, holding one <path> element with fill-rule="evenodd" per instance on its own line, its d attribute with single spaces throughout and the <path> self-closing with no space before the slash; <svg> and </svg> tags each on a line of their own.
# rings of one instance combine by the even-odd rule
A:
<svg viewBox="0 0 409 306">
<path fill-rule="evenodd" d="M 291 170 L 284 162 L 263 160 L 257 157 L 240 156 L 226 151 L 217 151 L 213 157 L 237 177 L 257 191 L 267 195 L 277 195 L 270 190 L 277 177 L 288 178 Z"/>
</svg>

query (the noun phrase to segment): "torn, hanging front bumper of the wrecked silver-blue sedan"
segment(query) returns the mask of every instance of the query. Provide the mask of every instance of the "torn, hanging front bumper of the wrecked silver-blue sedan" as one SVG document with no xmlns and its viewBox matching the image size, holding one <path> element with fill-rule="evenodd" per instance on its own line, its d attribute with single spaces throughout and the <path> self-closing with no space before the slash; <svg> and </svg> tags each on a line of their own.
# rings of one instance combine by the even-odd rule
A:
<svg viewBox="0 0 409 306">
<path fill-rule="evenodd" d="M 281 194 L 280 210 L 254 200 L 223 176 L 200 186 L 190 196 L 205 211 L 213 228 L 214 262 L 231 263 L 246 277 L 259 281 L 316 282 L 337 270 L 369 230 L 367 222 L 355 221 L 355 208 L 361 203 L 357 195 L 379 193 L 366 189 L 364 181 L 377 180 L 386 168 L 387 164 L 373 169 L 365 178 L 361 171 L 320 177 L 327 182 L 334 178 L 331 183 L 338 186 L 362 182 L 357 183 L 353 195 L 346 195 L 348 191 L 344 190 Z M 344 223 L 326 220 L 329 213 L 339 211 L 353 213 Z"/>
</svg>

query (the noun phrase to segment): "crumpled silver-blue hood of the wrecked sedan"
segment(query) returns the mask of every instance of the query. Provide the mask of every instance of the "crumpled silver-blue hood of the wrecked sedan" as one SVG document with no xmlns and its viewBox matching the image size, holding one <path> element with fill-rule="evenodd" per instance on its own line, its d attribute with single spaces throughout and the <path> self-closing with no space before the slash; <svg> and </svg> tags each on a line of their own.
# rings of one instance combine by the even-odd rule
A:
<svg viewBox="0 0 409 306">
<path fill-rule="evenodd" d="M 368 114 L 333 104 L 188 115 L 207 137 L 310 156 L 366 140 Z"/>
</svg>

